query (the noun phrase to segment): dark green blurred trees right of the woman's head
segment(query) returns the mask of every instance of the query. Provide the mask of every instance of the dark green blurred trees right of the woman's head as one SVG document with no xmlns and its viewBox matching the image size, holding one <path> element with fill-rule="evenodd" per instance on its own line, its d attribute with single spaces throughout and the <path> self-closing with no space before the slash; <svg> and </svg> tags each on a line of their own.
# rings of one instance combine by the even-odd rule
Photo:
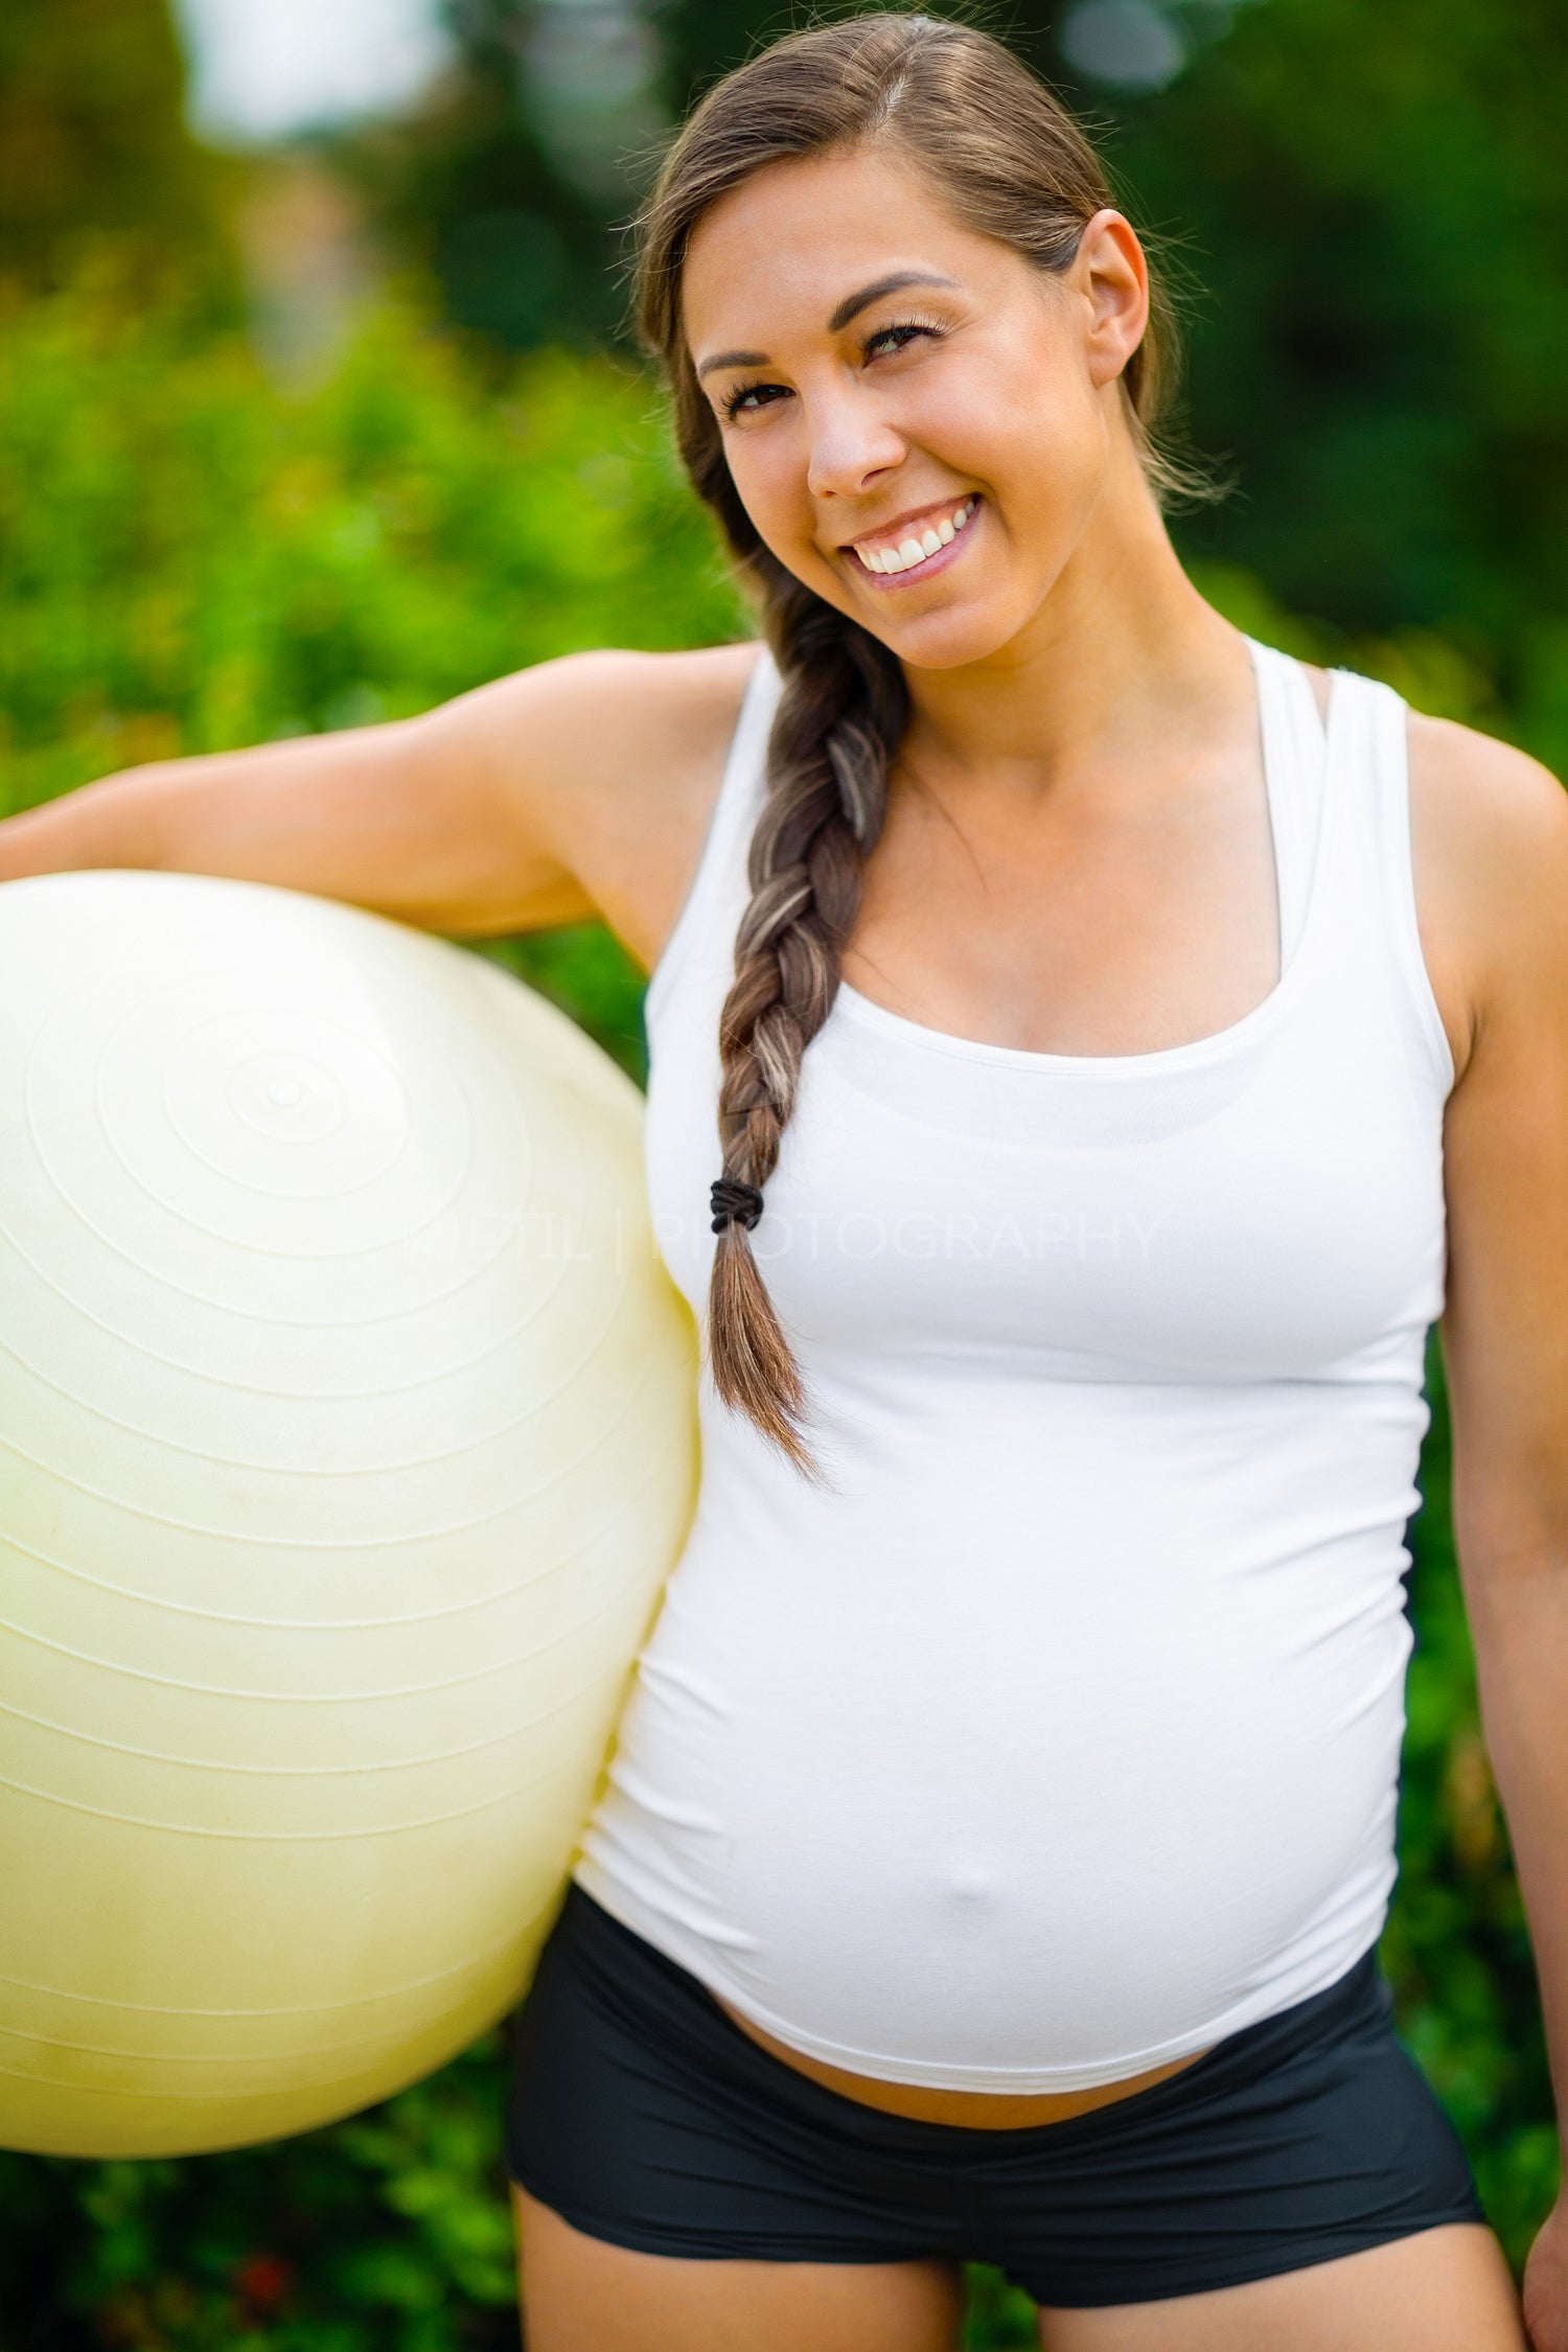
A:
<svg viewBox="0 0 1568 2352">
<path fill-rule="evenodd" d="M 1171 19 L 1187 68 L 1119 101 L 1112 153 L 1201 282 L 1192 426 L 1241 473 L 1187 546 L 1340 628 L 1458 637 L 1563 767 L 1561 12 L 1267 0 Z"/>
</svg>

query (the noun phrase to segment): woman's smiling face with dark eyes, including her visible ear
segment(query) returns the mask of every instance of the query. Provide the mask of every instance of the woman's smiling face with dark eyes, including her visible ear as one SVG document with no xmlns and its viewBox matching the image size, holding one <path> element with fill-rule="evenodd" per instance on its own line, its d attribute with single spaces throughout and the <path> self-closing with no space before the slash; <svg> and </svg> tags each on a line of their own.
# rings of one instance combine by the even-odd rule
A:
<svg viewBox="0 0 1568 2352">
<path fill-rule="evenodd" d="M 917 668 L 1025 633 L 1107 485 L 1147 501 L 1117 383 L 1147 275 L 1117 212 L 1053 275 L 896 155 L 769 165 L 698 221 L 682 313 L 762 541 Z"/>
</svg>

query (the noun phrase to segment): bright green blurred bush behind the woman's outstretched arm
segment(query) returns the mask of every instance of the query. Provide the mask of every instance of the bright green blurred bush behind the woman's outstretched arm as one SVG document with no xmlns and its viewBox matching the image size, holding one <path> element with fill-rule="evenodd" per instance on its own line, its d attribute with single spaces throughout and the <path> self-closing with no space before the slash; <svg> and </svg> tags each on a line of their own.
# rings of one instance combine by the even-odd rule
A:
<svg viewBox="0 0 1568 2352">
<path fill-rule="evenodd" d="M 552 654 L 745 623 L 644 376 L 496 374 L 411 310 L 331 381 L 113 273 L 0 310 L 0 811 L 181 753 L 404 717 Z M 599 929 L 487 943 L 635 1073 Z"/>
</svg>

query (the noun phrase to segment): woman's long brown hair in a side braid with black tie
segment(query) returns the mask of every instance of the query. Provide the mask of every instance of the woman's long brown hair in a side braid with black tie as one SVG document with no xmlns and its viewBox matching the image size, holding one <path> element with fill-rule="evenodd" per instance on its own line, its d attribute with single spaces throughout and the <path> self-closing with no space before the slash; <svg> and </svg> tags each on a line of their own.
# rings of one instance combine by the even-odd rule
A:
<svg viewBox="0 0 1568 2352">
<path fill-rule="evenodd" d="M 802 1056 L 832 1011 L 907 694 L 898 659 L 762 546 L 696 381 L 682 270 L 696 223 L 755 172 L 865 143 L 919 165 L 954 219 L 1041 270 L 1065 270 L 1084 226 L 1114 202 L 1079 125 L 1001 42 L 964 24 L 877 12 L 792 33 L 717 82 L 675 139 L 639 221 L 642 339 L 665 367 L 686 473 L 719 517 L 783 680 L 750 844 L 752 901 L 719 1021 L 724 1178 L 757 1190 L 778 1164 Z M 1126 362 L 1121 395 L 1159 496 L 1194 485 L 1152 440 L 1175 346 L 1166 296 L 1150 294 L 1150 327 Z M 736 1204 L 731 1192 L 729 1211 Z M 757 1204 L 741 1207 L 755 1221 Z M 804 1442 L 799 1364 L 736 1214 L 719 1225 L 708 1352 L 719 1397 L 818 1475 Z"/>
</svg>

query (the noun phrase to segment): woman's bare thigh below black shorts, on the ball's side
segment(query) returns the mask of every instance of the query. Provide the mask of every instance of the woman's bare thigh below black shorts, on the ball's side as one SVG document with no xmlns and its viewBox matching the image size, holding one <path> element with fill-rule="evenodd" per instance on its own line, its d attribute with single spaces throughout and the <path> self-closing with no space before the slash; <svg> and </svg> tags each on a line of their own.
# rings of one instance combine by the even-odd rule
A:
<svg viewBox="0 0 1568 2352">
<path fill-rule="evenodd" d="M 524 2352 L 957 2352 L 947 2263 L 693 2263 L 585 2237 L 524 2190 L 512 2204 Z"/>
</svg>

